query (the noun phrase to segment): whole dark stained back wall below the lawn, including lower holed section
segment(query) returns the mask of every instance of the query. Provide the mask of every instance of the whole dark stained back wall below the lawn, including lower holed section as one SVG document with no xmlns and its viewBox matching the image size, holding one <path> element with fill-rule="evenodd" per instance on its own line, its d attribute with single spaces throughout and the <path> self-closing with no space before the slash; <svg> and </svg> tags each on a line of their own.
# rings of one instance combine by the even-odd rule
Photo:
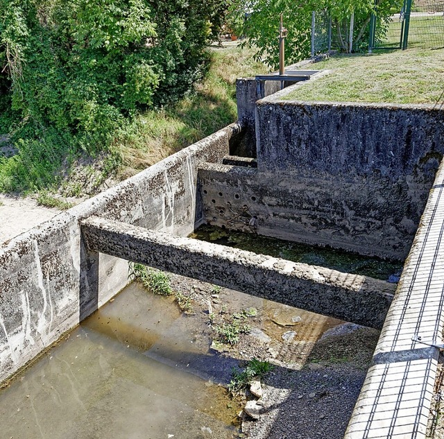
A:
<svg viewBox="0 0 444 439">
<path fill-rule="evenodd" d="M 257 101 L 257 169 L 199 171 L 207 221 L 405 259 L 443 157 L 443 112 L 287 92 Z"/>
</svg>

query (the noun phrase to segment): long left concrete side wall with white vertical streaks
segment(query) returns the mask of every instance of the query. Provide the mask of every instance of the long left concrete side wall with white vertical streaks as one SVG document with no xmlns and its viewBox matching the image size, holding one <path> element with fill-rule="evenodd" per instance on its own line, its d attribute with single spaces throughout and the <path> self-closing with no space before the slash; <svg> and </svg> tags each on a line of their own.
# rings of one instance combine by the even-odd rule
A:
<svg viewBox="0 0 444 439">
<path fill-rule="evenodd" d="M 189 234 L 203 221 L 198 164 L 220 162 L 239 130 L 234 123 L 0 249 L 0 382 L 128 282 L 128 262 L 89 252 L 79 221 L 95 214 Z"/>
</svg>

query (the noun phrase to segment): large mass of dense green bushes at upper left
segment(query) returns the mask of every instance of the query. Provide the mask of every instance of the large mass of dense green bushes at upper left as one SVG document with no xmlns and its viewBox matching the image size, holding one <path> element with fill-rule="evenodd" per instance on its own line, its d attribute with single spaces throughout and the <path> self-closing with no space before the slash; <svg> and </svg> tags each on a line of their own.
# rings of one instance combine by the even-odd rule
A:
<svg viewBox="0 0 444 439">
<path fill-rule="evenodd" d="M 0 0 L 0 190 L 37 189 L 205 75 L 221 0 Z"/>
</svg>

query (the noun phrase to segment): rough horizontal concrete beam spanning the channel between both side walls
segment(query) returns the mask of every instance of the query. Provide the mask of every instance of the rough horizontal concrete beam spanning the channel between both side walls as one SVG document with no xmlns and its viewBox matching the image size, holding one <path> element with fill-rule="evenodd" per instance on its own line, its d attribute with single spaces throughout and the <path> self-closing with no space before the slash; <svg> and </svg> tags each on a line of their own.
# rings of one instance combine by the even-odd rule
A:
<svg viewBox="0 0 444 439">
<path fill-rule="evenodd" d="M 81 223 L 91 252 L 381 328 L 395 285 L 328 268 L 297 264 L 118 221 L 90 217 Z"/>
</svg>

